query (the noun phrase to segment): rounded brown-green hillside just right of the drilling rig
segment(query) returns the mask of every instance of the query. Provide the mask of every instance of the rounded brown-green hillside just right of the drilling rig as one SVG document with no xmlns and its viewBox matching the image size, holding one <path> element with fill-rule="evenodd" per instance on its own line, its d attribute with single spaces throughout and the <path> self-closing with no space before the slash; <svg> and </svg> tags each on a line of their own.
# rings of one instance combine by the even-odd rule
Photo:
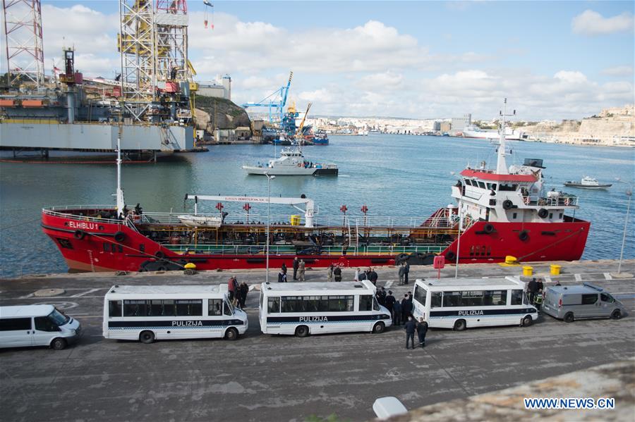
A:
<svg viewBox="0 0 635 422">
<path fill-rule="evenodd" d="M 251 120 L 249 120 L 245 109 L 237 106 L 229 99 L 197 95 L 195 107 L 203 112 L 196 113 L 196 126 L 198 129 L 213 132 L 214 111 L 216 112 L 215 124 L 219 129 L 236 129 L 240 126 L 251 127 Z"/>
</svg>

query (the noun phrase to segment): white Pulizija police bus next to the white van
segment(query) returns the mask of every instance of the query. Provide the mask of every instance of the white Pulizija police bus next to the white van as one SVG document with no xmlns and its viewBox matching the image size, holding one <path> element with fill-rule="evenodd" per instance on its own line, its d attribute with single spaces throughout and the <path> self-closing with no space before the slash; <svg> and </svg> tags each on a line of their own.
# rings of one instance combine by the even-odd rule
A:
<svg viewBox="0 0 635 422">
<path fill-rule="evenodd" d="M 231 305 L 227 285 L 115 285 L 104 297 L 106 338 L 236 340 L 247 328 L 247 314 Z"/>
</svg>

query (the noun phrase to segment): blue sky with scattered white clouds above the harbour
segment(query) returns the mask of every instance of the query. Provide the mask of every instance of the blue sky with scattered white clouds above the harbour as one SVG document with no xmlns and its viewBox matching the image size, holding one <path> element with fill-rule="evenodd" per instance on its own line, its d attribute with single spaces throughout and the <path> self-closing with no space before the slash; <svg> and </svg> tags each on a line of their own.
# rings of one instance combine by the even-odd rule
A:
<svg viewBox="0 0 635 422">
<path fill-rule="evenodd" d="M 289 70 L 317 114 L 490 118 L 506 96 L 524 118 L 561 119 L 634 101 L 632 1 L 212 3 L 213 31 L 188 1 L 190 56 L 200 79 L 231 74 L 236 102 Z M 116 72 L 116 1 L 42 4 L 47 68 L 64 35 L 85 73 Z"/>
</svg>

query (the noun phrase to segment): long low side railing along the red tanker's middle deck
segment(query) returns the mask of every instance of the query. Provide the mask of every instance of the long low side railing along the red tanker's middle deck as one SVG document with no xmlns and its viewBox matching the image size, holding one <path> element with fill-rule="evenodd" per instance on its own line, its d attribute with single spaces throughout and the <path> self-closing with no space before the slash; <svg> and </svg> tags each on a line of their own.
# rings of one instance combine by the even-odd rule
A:
<svg viewBox="0 0 635 422">
<path fill-rule="evenodd" d="M 164 244 L 164 247 L 179 254 L 222 254 L 222 255 L 265 255 L 265 245 L 249 244 Z M 366 256 L 366 255 L 387 255 L 398 254 L 438 254 L 445 249 L 440 245 L 352 245 L 344 246 L 323 246 L 319 249 L 320 256 Z M 291 244 L 270 245 L 270 255 L 315 255 L 317 247 L 296 247 Z"/>
</svg>

